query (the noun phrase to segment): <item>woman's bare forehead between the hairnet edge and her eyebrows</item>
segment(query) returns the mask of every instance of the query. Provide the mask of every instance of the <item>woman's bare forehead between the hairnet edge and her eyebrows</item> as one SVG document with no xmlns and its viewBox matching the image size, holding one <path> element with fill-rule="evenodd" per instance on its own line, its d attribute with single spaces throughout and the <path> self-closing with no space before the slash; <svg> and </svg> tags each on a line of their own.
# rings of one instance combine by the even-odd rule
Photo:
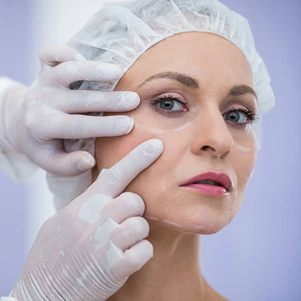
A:
<svg viewBox="0 0 301 301">
<path fill-rule="evenodd" d="M 249 64 L 239 48 L 209 33 L 181 33 L 147 49 L 126 71 L 124 78 L 139 83 L 162 72 L 189 74 L 208 85 L 227 81 L 253 86 Z"/>
</svg>

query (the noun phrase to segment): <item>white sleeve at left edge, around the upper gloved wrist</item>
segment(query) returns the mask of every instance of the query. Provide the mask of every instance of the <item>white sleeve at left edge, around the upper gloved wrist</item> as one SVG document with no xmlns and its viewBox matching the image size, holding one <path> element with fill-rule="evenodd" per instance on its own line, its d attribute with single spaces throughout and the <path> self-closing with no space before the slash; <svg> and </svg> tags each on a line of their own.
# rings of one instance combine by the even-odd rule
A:
<svg viewBox="0 0 301 301">
<path fill-rule="evenodd" d="M 18 82 L 7 77 L 0 77 L 0 110 L 4 93 L 9 87 L 17 84 Z M 3 170 L 15 182 L 24 183 L 32 179 L 37 171 L 37 166 L 24 155 L 8 151 L 5 138 L 0 133 L 0 170 Z"/>
</svg>

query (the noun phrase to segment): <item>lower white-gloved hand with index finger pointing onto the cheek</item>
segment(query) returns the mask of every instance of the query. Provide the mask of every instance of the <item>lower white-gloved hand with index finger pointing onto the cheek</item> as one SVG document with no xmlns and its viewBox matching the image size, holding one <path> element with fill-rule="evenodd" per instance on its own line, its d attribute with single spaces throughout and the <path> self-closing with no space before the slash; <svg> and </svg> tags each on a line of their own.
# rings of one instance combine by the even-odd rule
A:
<svg viewBox="0 0 301 301">
<path fill-rule="evenodd" d="M 144 202 L 122 191 L 162 151 L 161 140 L 144 141 L 48 219 L 10 296 L 103 301 L 152 258 Z"/>
</svg>

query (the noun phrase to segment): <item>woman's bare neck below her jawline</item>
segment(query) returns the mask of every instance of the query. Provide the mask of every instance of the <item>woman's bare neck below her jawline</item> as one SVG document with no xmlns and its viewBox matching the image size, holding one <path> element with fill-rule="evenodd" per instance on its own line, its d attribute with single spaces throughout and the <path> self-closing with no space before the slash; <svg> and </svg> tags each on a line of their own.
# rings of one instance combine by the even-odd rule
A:
<svg viewBox="0 0 301 301">
<path fill-rule="evenodd" d="M 199 234 L 149 222 L 146 239 L 153 244 L 154 257 L 130 275 L 108 301 L 210 300 L 209 295 L 215 293 L 200 271 Z"/>
</svg>

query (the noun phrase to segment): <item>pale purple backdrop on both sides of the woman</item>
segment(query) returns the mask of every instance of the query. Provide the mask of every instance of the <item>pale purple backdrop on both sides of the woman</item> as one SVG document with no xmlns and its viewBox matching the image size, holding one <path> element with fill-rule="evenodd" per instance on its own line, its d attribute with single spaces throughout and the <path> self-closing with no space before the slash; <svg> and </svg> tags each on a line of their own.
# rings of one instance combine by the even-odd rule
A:
<svg viewBox="0 0 301 301">
<path fill-rule="evenodd" d="M 240 211 L 222 231 L 201 236 L 202 271 L 231 300 L 301 300 L 301 198 L 296 189 L 301 183 L 301 3 L 222 2 L 248 19 L 276 106 L 263 115 L 262 148 Z M 28 76 L 32 8 L 29 0 L 0 1 L 0 75 L 26 84 L 33 80 Z M 24 234 L 29 188 L 2 172 L 0 188 L 1 296 L 10 292 L 29 252 Z"/>
</svg>

